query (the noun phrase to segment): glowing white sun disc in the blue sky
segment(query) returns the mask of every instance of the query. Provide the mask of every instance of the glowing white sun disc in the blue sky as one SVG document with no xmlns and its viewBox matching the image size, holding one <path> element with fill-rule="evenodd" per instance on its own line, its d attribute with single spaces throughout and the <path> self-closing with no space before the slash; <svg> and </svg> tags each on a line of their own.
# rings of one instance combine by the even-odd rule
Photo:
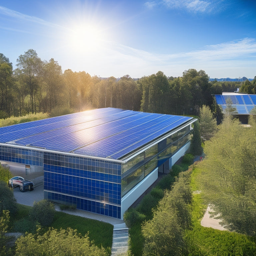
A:
<svg viewBox="0 0 256 256">
<path fill-rule="evenodd" d="M 104 33 L 93 25 L 78 25 L 70 29 L 68 35 L 70 46 L 82 52 L 97 51 L 103 44 Z"/>
</svg>

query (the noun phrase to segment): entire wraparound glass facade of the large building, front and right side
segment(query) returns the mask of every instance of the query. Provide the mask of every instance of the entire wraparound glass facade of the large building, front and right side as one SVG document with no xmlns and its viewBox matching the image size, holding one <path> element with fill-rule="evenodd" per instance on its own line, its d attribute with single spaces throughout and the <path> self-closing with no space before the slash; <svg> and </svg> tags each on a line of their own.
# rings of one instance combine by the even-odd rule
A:
<svg viewBox="0 0 256 256">
<path fill-rule="evenodd" d="M 44 198 L 121 218 L 121 197 L 190 140 L 190 126 L 121 164 L 0 145 L 0 161 L 43 166 Z"/>
</svg>

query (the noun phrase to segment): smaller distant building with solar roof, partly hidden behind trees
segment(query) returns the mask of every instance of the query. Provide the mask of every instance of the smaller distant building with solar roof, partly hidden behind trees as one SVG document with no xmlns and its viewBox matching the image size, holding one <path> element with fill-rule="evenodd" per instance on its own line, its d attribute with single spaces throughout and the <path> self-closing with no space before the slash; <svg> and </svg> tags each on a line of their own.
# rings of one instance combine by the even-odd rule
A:
<svg viewBox="0 0 256 256">
<path fill-rule="evenodd" d="M 223 92 L 222 95 L 214 95 L 216 103 L 223 113 L 229 109 L 229 113 L 242 123 L 248 123 L 248 116 L 256 107 L 256 95 L 244 93 Z"/>
</svg>

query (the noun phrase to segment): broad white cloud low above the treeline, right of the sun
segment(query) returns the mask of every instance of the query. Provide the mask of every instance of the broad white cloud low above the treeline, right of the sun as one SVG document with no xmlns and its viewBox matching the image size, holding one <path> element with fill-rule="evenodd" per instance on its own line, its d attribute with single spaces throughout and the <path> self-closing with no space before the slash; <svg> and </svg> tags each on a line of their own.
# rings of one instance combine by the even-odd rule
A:
<svg viewBox="0 0 256 256">
<path fill-rule="evenodd" d="M 102 50 L 98 59 L 93 56 L 94 59 L 89 62 L 90 65 L 86 67 L 89 73 L 89 70 L 94 70 L 94 73 L 99 70 L 98 74 L 103 77 L 110 74 L 116 77 L 125 74 L 142 77 L 161 70 L 167 76 L 180 76 L 182 71 L 195 68 L 210 72 L 210 77 L 253 78 L 256 75 L 256 40 L 251 38 L 209 45 L 202 50 L 178 54 L 152 54 L 113 42 L 105 47 L 107 50 Z M 98 66 L 99 62 L 104 63 L 104 69 Z"/>
</svg>

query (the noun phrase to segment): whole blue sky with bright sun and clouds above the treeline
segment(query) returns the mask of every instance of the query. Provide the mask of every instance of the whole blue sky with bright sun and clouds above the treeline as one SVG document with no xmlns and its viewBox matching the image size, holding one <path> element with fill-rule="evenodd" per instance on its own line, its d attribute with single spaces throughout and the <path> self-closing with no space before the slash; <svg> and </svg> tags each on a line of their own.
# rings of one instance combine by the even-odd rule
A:
<svg viewBox="0 0 256 256">
<path fill-rule="evenodd" d="M 64 72 L 256 76 L 255 0 L 1 0 L 0 53 L 28 49 Z"/>
</svg>

